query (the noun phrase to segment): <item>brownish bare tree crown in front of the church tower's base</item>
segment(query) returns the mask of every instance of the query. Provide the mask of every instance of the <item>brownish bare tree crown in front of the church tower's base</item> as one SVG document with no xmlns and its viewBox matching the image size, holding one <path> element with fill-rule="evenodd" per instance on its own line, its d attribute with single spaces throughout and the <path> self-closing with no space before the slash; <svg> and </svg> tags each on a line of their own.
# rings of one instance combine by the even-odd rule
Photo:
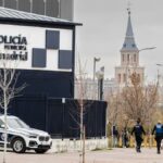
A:
<svg viewBox="0 0 163 163">
<path fill-rule="evenodd" d="M 122 96 L 124 112 L 130 120 L 141 118 L 142 123 L 150 121 L 158 101 L 158 83 L 142 86 L 137 73 L 130 75 L 131 86 L 125 87 Z"/>
</svg>

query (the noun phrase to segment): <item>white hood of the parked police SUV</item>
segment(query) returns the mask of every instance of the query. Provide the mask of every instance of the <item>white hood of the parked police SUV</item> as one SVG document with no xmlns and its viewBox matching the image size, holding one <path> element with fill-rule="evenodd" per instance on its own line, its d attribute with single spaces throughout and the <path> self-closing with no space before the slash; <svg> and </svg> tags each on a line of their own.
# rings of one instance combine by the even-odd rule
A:
<svg viewBox="0 0 163 163">
<path fill-rule="evenodd" d="M 48 133 L 35 128 L 16 128 L 16 129 L 10 128 L 10 131 L 28 136 L 49 136 Z"/>
</svg>

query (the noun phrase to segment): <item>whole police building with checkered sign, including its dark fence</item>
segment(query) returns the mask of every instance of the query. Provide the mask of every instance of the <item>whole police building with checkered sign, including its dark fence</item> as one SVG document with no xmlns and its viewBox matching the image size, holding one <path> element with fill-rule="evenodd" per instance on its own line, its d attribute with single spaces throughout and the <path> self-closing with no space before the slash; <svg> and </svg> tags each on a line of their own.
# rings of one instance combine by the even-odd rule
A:
<svg viewBox="0 0 163 163">
<path fill-rule="evenodd" d="M 80 25 L 0 8 L 0 60 L 10 62 L 20 73 L 16 87 L 27 85 L 11 102 L 8 113 L 54 138 L 79 137 L 74 78 L 75 28 Z M 106 103 L 85 103 L 86 136 L 104 137 Z"/>
</svg>

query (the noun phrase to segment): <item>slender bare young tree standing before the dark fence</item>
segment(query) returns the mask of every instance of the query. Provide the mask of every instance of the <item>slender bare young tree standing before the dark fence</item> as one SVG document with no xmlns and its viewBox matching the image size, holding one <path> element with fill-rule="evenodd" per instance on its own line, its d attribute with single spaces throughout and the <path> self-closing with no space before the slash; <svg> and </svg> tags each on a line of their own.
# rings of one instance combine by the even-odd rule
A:
<svg viewBox="0 0 163 163">
<path fill-rule="evenodd" d="M 83 64 L 84 63 L 84 64 Z M 75 83 L 76 83 L 76 90 L 77 90 L 77 102 L 75 103 L 76 105 L 76 112 L 72 111 L 76 117 L 73 116 L 72 118 L 76 122 L 77 126 L 79 127 L 79 135 L 80 135 L 80 147 L 82 147 L 82 163 L 85 163 L 85 137 L 86 137 L 86 129 L 85 129 L 85 124 L 84 124 L 84 117 L 86 114 L 89 112 L 89 109 L 91 104 L 93 103 L 92 100 L 90 100 L 90 97 L 95 97 L 96 95 L 96 89 L 95 87 L 90 88 L 89 85 L 89 79 L 87 77 L 86 73 L 86 64 L 87 62 L 83 62 L 80 58 L 78 58 L 77 62 L 77 68 L 76 68 L 76 77 L 75 77 Z M 92 84 L 92 83 L 91 83 Z M 91 91 L 91 92 L 90 92 Z M 93 96 L 92 96 L 93 95 Z M 89 99 L 89 101 L 88 101 Z M 79 121 L 78 121 L 79 120 Z"/>
</svg>

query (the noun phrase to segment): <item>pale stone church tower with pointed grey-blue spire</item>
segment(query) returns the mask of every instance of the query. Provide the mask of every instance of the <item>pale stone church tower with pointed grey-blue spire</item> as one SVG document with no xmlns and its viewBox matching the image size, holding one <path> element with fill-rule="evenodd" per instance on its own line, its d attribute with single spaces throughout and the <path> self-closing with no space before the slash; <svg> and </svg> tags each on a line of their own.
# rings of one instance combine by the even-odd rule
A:
<svg viewBox="0 0 163 163">
<path fill-rule="evenodd" d="M 121 49 L 121 65 L 115 67 L 115 80 L 120 87 L 129 86 L 129 76 L 133 73 L 137 73 L 140 77 L 140 83 L 143 84 L 143 72 L 145 67 L 139 66 L 139 49 L 135 42 L 130 10 L 128 9 L 126 36 Z"/>
</svg>

